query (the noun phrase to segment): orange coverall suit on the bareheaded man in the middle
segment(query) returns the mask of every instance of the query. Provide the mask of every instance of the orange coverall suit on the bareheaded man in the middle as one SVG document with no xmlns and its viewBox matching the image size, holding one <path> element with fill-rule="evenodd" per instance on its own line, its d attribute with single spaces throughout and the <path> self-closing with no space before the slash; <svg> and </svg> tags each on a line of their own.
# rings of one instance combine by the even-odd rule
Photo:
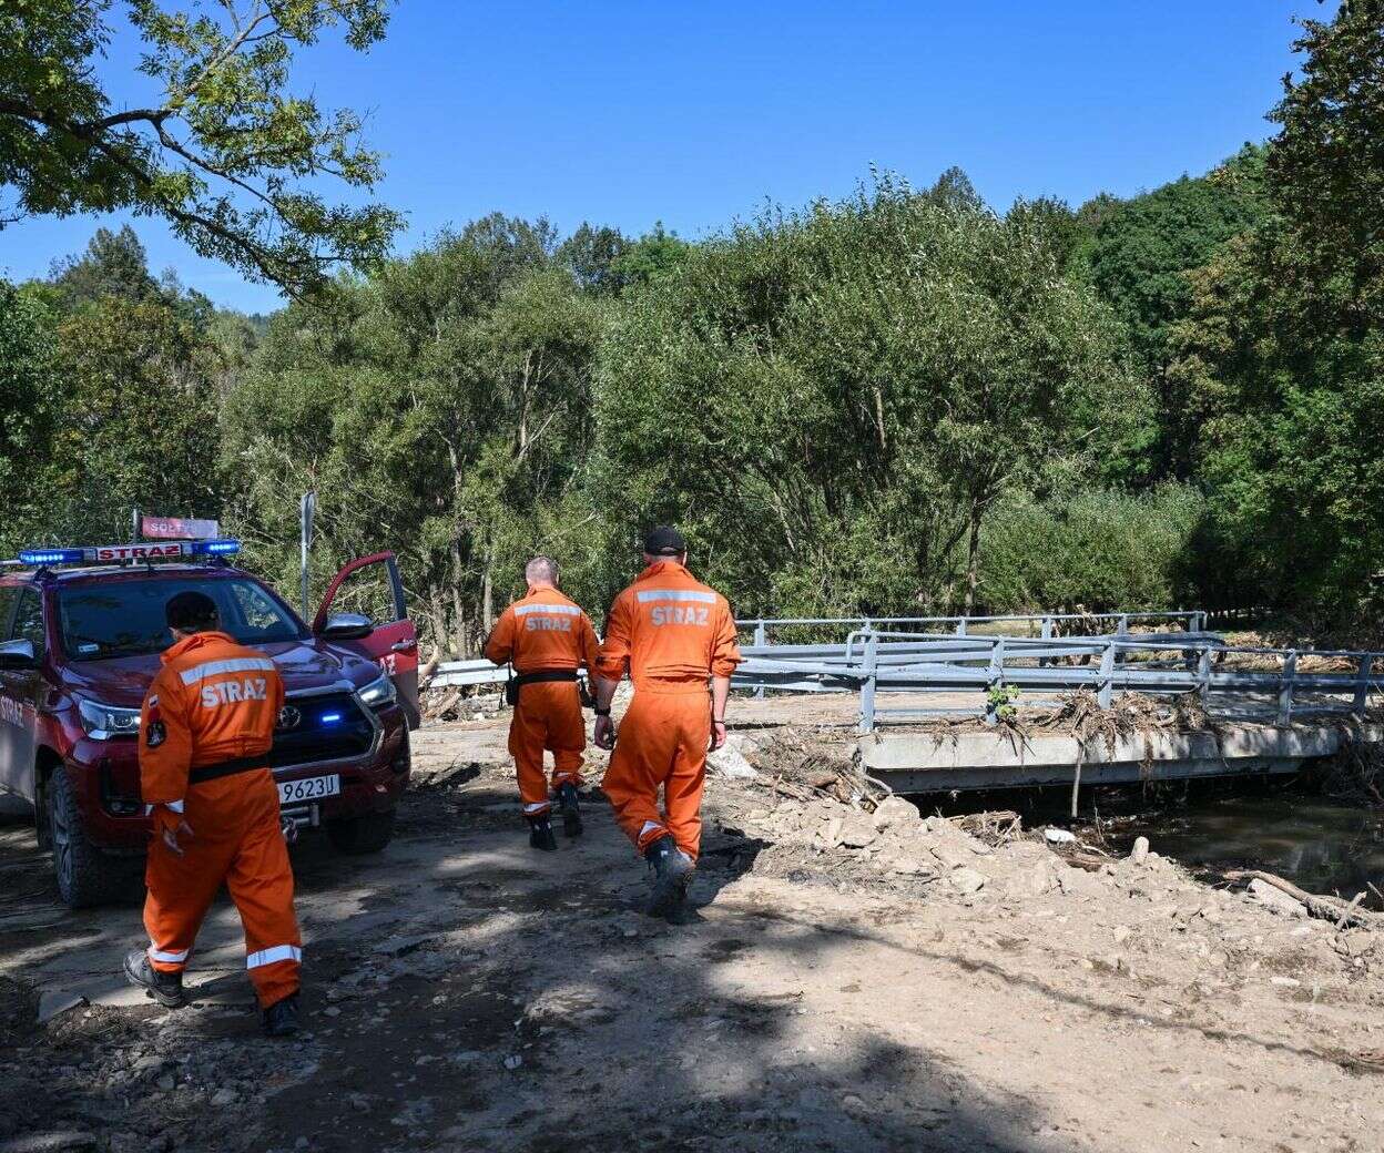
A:
<svg viewBox="0 0 1384 1153">
<path fill-rule="evenodd" d="M 493 664 L 512 662 L 515 673 L 595 669 L 597 633 L 581 609 L 556 588 L 530 588 L 501 613 L 486 641 Z M 552 808 L 543 777 L 543 752 L 552 753 L 552 788 L 566 781 L 581 783 L 581 753 L 587 725 L 576 681 L 537 681 L 519 689 L 519 703 L 509 721 L 509 754 L 519 777 L 519 797 L 526 817 Z"/>
</svg>

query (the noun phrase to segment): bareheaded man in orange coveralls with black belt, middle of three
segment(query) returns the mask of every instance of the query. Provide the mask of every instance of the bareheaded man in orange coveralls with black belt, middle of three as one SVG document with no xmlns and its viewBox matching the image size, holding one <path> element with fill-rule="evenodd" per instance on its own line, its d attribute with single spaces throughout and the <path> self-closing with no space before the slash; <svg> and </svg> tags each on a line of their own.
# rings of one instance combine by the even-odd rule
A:
<svg viewBox="0 0 1384 1153">
<path fill-rule="evenodd" d="M 529 821 L 529 844 L 558 847 L 549 812 L 552 797 L 562 806 L 562 830 L 581 833 L 577 788 L 587 727 L 581 718 L 577 669 L 595 669 L 597 634 L 581 609 L 558 591 L 558 565 L 534 556 L 523 570 L 529 591 L 501 613 L 486 641 L 486 659 L 513 663 L 509 682 L 513 718 L 509 753 L 519 777 L 519 797 Z M 543 753 L 552 753 L 552 795 L 543 775 Z"/>
</svg>

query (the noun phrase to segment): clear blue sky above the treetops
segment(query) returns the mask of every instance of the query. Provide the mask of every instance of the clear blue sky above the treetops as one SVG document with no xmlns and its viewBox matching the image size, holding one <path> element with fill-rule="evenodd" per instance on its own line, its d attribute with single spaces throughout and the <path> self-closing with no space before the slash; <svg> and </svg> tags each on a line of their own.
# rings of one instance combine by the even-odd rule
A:
<svg viewBox="0 0 1384 1153">
<path fill-rule="evenodd" d="M 116 4 L 116 10 L 123 6 Z M 1313 0 L 529 3 L 401 0 L 367 55 L 324 43 L 295 87 L 368 114 L 407 252 L 500 209 L 688 238 L 772 199 L 841 197 L 871 166 L 960 165 L 983 197 L 1129 195 L 1272 131 L 1291 17 Z M 107 64 L 133 100 L 131 50 Z M 119 102 L 119 101 L 118 101 Z M 98 223 L 0 231 L 0 274 L 42 275 Z M 134 221 L 155 270 L 268 310 L 274 289 Z"/>
</svg>

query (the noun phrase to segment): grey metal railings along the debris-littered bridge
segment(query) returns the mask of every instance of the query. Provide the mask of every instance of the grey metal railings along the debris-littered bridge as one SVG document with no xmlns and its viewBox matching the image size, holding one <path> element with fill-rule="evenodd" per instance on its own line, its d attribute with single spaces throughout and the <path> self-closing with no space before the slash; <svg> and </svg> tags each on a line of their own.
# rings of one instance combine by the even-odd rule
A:
<svg viewBox="0 0 1384 1153">
<path fill-rule="evenodd" d="M 1161 696 L 1196 693 L 1219 716 L 1269 718 L 1289 724 L 1300 716 L 1362 717 L 1373 693 L 1381 692 L 1384 653 L 1327 649 L 1266 649 L 1228 646 L 1215 634 L 1194 627 L 1201 612 L 1111 613 L 1121 630 L 1103 637 L 1056 638 L 1050 627 L 1039 637 L 988 635 L 967 631 L 978 621 L 1089 620 L 1080 616 L 929 617 L 954 627 L 947 634 L 883 631 L 871 621 L 853 628 L 840 644 L 742 645 L 745 663 L 732 687 L 756 696 L 775 692 L 858 692 L 859 727 L 871 732 L 882 720 L 936 716 L 984 716 L 994 721 L 1008 702 L 1008 689 L 1071 692 L 1091 689 L 1109 707 L 1120 692 Z M 1178 621 L 1183 631 L 1131 634 L 1133 620 Z M 742 621 L 756 635 L 775 624 L 861 626 L 855 620 Z M 1268 657 L 1277 670 L 1225 667 L 1235 657 Z M 1301 669 L 1308 657 L 1345 660 L 1349 671 Z M 489 660 L 454 660 L 437 667 L 432 687 L 504 684 L 505 667 Z M 984 693 L 983 702 L 934 709 L 883 709 L 882 693 Z M 1035 698 L 1026 698 L 1034 703 Z M 1044 703 L 1044 698 L 1037 698 Z"/>
</svg>

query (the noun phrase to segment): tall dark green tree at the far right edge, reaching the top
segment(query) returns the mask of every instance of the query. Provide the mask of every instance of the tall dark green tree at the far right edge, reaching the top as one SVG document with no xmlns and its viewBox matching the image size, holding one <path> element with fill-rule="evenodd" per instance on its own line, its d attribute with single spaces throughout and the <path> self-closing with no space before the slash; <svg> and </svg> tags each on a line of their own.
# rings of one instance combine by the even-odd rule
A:
<svg viewBox="0 0 1384 1153">
<path fill-rule="evenodd" d="M 1384 555 L 1384 50 L 1378 3 L 1304 22 L 1273 116 L 1276 209 L 1190 278 L 1172 375 L 1201 426 L 1212 595 L 1329 624 L 1365 608 Z"/>
</svg>

